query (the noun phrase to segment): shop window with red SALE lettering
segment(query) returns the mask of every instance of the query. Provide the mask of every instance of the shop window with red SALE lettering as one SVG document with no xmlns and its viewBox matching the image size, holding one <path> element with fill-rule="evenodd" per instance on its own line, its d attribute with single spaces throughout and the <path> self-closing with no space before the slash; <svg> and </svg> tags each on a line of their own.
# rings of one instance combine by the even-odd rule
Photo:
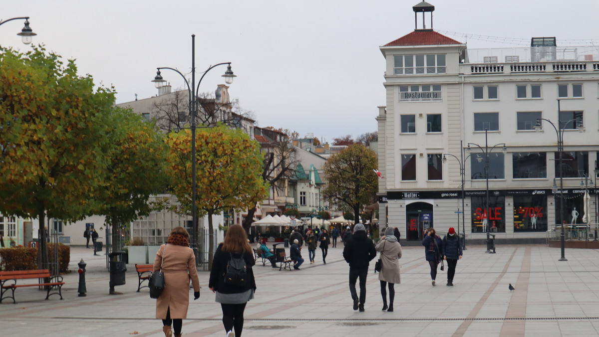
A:
<svg viewBox="0 0 599 337">
<path fill-rule="evenodd" d="M 489 207 L 486 197 L 470 198 L 472 204 L 472 232 L 506 232 L 506 198 L 489 193 Z"/>
</svg>

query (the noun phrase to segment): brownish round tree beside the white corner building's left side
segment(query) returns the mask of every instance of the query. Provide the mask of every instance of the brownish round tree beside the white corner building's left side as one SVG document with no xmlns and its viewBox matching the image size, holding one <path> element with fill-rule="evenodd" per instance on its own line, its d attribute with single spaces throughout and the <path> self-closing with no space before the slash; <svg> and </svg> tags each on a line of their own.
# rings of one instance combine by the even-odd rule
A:
<svg viewBox="0 0 599 337">
<path fill-rule="evenodd" d="M 378 189 L 377 156 L 362 144 L 352 144 L 325 163 L 326 186 L 322 195 L 331 204 L 345 204 L 359 221 L 360 210 L 370 204 Z"/>
</svg>

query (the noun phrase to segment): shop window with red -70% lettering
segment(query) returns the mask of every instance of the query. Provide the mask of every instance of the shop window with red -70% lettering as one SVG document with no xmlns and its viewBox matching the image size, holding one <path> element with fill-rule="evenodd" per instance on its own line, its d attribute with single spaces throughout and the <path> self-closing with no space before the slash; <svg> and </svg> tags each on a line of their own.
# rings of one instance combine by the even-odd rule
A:
<svg viewBox="0 0 599 337">
<path fill-rule="evenodd" d="M 514 232 L 547 230 L 547 196 L 514 196 Z"/>
</svg>

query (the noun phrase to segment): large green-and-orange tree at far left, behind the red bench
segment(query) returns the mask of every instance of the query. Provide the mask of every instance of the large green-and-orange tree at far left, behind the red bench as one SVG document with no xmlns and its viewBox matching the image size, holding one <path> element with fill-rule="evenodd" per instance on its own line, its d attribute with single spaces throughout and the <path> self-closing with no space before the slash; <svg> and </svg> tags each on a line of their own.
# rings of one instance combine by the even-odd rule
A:
<svg viewBox="0 0 599 337">
<path fill-rule="evenodd" d="M 38 218 L 47 269 L 46 216 L 68 223 L 96 208 L 114 148 L 105 129 L 114 90 L 41 46 L 2 48 L 0 63 L 0 212 Z"/>
</svg>

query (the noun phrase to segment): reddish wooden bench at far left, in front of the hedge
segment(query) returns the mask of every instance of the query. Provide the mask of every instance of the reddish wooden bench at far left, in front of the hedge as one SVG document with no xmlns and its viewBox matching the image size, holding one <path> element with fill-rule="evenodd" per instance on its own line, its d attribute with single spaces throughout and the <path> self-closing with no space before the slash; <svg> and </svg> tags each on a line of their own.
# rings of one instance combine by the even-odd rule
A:
<svg viewBox="0 0 599 337">
<path fill-rule="evenodd" d="M 51 282 L 44 283 L 27 283 L 27 284 L 17 284 L 17 280 L 30 280 L 36 278 L 49 278 Z M 52 282 L 53 279 L 56 279 L 55 282 Z M 13 281 L 11 284 L 7 284 L 8 281 Z M 50 271 L 48 269 L 37 269 L 31 271 L 0 271 L 0 303 L 2 300 L 11 298 L 13 299 L 13 303 L 17 303 L 14 299 L 14 290 L 20 287 L 46 287 L 46 299 L 50 297 L 50 295 L 58 294 L 60 295 L 60 299 L 62 300 L 62 286 L 65 284 L 62 281 L 62 276 L 54 276 L 50 275 Z M 58 293 L 53 292 L 50 293 L 50 290 L 58 288 Z M 8 290 L 12 291 L 12 296 L 5 296 Z"/>
</svg>

